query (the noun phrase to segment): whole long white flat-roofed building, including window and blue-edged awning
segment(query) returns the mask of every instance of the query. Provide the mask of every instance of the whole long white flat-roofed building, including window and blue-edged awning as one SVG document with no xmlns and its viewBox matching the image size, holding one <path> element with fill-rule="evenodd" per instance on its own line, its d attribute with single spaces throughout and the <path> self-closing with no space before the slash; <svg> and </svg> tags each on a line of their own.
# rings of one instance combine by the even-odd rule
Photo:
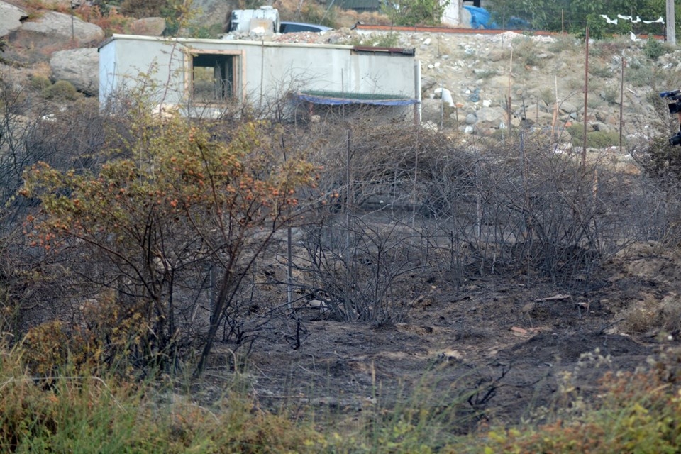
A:
<svg viewBox="0 0 681 454">
<path fill-rule="evenodd" d="M 157 103 L 189 116 L 217 116 L 235 105 L 265 109 L 284 97 L 287 109 L 369 104 L 409 111 L 421 94 L 414 49 L 114 35 L 99 48 L 101 104 L 141 84 L 157 87 Z"/>
</svg>

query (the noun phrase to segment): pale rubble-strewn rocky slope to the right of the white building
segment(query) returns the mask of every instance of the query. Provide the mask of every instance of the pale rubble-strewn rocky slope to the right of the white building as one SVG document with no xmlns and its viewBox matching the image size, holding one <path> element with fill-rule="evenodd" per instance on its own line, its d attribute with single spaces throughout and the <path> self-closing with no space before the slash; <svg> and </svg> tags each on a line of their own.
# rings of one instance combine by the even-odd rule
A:
<svg viewBox="0 0 681 454">
<path fill-rule="evenodd" d="M 367 32 L 341 29 L 314 40 L 380 44 L 386 38 L 361 33 Z M 626 143 L 645 140 L 650 128 L 667 117 L 658 92 L 680 84 L 681 52 L 658 40 L 637 39 L 589 45 L 587 131 L 599 131 L 611 145 L 619 142 L 620 118 Z M 416 48 L 422 65 L 423 119 L 438 127 L 482 135 L 503 131 L 510 99 L 512 126 L 580 130 L 587 63 L 583 40 L 510 31 L 407 32 L 399 33 L 394 45 Z M 563 131 L 565 142 L 570 141 L 567 131 L 575 129 Z"/>
</svg>

